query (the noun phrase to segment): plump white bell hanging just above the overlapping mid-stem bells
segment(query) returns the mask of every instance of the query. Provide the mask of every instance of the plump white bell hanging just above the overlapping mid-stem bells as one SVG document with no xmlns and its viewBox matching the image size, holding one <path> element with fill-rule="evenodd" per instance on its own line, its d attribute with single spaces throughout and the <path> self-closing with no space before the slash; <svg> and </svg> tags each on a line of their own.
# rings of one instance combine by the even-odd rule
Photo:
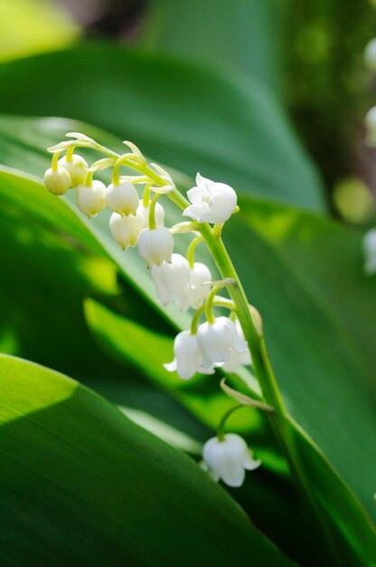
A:
<svg viewBox="0 0 376 567">
<path fill-rule="evenodd" d="M 174 251 L 174 236 L 164 226 L 144 228 L 138 236 L 138 252 L 150 268 L 163 262 L 171 263 Z"/>
</svg>

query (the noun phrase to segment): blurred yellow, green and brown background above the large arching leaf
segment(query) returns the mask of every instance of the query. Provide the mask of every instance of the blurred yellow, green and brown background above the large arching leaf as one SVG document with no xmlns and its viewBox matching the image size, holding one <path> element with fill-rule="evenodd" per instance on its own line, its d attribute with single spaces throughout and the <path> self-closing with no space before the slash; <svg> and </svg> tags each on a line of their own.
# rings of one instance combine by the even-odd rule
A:
<svg viewBox="0 0 376 567">
<path fill-rule="evenodd" d="M 257 78 L 287 108 L 334 215 L 373 218 L 375 152 L 363 117 L 376 81 L 362 61 L 376 32 L 371 0 L 1 0 L 0 15 L 0 61 L 89 38 Z"/>
</svg>

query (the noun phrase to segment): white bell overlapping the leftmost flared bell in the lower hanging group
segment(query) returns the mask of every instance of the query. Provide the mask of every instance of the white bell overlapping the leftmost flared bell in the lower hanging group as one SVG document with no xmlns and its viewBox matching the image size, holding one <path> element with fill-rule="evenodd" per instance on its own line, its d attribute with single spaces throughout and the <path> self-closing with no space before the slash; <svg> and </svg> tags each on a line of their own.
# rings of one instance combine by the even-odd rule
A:
<svg viewBox="0 0 376 567">
<path fill-rule="evenodd" d="M 202 366 L 227 362 L 231 351 L 244 353 L 247 342 L 241 340 L 235 323 L 228 317 L 218 317 L 213 323 L 204 322 L 197 330 L 197 342 L 202 352 Z"/>
</svg>

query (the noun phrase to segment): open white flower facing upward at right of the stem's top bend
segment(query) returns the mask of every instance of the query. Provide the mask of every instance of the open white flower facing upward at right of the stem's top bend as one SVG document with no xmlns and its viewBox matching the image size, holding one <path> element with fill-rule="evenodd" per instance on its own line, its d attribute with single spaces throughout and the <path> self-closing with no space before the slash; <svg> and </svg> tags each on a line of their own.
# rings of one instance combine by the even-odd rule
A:
<svg viewBox="0 0 376 567">
<path fill-rule="evenodd" d="M 237 195 L 230 185 L 216 183 L 211 179 L 196 176 L 197 187 L 187 193 L 192 205 L 183 211 L 199 223 L 224 223 L 237 207 Z"/>
</svg>

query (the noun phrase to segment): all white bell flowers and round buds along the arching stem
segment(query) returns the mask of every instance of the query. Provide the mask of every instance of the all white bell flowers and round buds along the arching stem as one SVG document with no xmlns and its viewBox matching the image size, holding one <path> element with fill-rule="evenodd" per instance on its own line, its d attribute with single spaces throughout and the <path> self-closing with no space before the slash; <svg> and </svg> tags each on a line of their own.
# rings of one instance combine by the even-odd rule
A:
<svg viewBox="0 0 376 567">
<path fill-rule="evenodd" d="M 44 176 L 48 190 L 53 195 L 63 195 L 74 188 L 77 205 L 89 218 L 108 207 L 111 235 L 123 250 L 137 246 L 150 269 L 159 302 L 163 306 L 174 303 L 180 312 L 195 311 L 191 328 L 175 337 L 174 360 L 165 363 L 164 368 L 189 380 L 196 373 L 213 374 L 218 368 L 234 372 L 240 365 L 249 365 L 249 345 L 235 304 L 220 294 L 236 282 L 230 278 L 213 281 L 209 266 L 194 260 L 197 245 L 204 241 L 202 227 L 209 223 L 213 225 L 211 234 L 220 236 L 224 223 L 239 210 L 234 189 L 198 173 L 196 186 L 187 192 L 187 201 L 170 175 L 160 166 L 147 165 L 134 144 L 125 142 L 131 151 L 118 156 L 82 134 L 73 132 L 67 136 L 72 139 L 50 149 L 52 167 Z M 106 157 L 89 167 L 75 153 L 77 148 L 95 149 Z M 122 166 L 136 170 L 138 175 L 120 176 Z M 96 172 L 107 168 L 112 168 L 108 187 L 93 178 Z M 157 202 L 163 195 L 178 202 L 183 216 L 191 221 L 164 226 L 164 207 Z M 174 253 L 174 235 L 189 232 L 193 240 L 186 255 Z M 230 316 L 214 315 L 218 308 L 230 310 Z M 206 320 L 200 323 L 204 315 Z M 251 470 L 259 464 L 252 460 L 245 441 L 236 435 L 210 439 L 204 446 L 203 459 L 215 480 L 221 478 L 231 486 L 241 485 L 244 469 Z"/>
</svg>

